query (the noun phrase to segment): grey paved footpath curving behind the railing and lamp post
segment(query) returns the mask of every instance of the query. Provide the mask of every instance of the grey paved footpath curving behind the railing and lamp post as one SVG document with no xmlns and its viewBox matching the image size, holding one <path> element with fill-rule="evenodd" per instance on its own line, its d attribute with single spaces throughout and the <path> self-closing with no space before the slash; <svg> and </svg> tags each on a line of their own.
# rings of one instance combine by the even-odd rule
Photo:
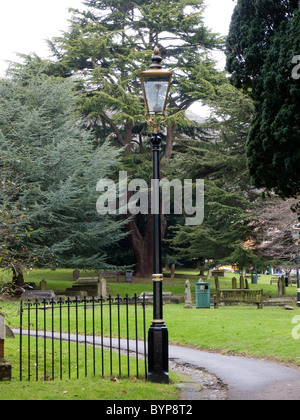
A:
<svg viewBox="0 0 300 420">
<path fill-rule="evenodd" d="M 14 330 L 18 334 L 18 330 Z M 23 331 L 26 335 L 26 331 Z M 44 337 L 44 332 L 39 333 Z M 59 338 L 59 334 L 56 334 Z M 51 333 L 46 333 L 49 338 Z M 63 334 L 63 339 L 68 339 Z M 71 341 L 76 336 L 70 336 Z M 92 344 L 92 337 L 87 336 L 87 343 Z M 101 338 L 96 337 L 96 345 L 101 344 Z M 84 336 L 79 336 L 79 342 L 84 342 Z M 104 345 L 109 347 L 110 339 L 104 339 Z M 112 340 L 112 346 L 118 348 L 118 340 Z M 127 350 L 127 340 L 121 340 L 121 348 Z M 138 343 L 138 351 L 143 355 L 144 343 Z M 136 343 L 129 341 L 129 349 L 136 351 Z M 229 400 L 300 400 L 300 369 L 293 369 L 259 359 L 225 356 L 219 353 L 204 352 L 180 346 L 169 346 L 169 358 L 179 365 L 190 365 L 203 369 L 220 379 L 228 388 Z"/>
</svg>

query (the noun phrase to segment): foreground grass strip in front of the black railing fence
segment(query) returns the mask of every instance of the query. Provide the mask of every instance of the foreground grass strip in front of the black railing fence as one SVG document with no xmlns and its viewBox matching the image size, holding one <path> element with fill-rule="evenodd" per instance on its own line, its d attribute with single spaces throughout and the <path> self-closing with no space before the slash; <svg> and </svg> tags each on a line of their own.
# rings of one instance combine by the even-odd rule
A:
<svg viewBox="0 0 300 420">
<path fill-rule="evenodd" d="M 66 345 L 66 344 L 65 344 Z M 43 380 L 43 367 L 40 369 L 39 381 L 35 381 L 35 369 L 32 369 L 31 380 L 24 378 L 19 381 L 19 339 L 6 340 L 6 358 L 12 364 L 13 379 L 11 382 L 0 382 L 0 400 L 178 400 L 179 391 L 174 384 L 160 385 L 136 379 L 116 379 L 115 377 L 99 374 L 85 377 L 81 375 L 76 379 L 73 373 L 72 379 Z M 108 357 L 106 358 L 108 360 Z M 81 360 L 82 362 L 82 360 Z M 108 362 L 106 362 L 108 363 Z M 72 366 L 74 370 L 74 366 Z M 67 368 L 65 367 L 65 370 Z M 109 366 L 105 367 L 109 370 Z M 51 367 L 48 366 L 48 371 Z M 97 371 L 96 371 L 97 372 Z M 171 381 L 179 380 L 179 377 L 171 373 Z"/>
</svg>

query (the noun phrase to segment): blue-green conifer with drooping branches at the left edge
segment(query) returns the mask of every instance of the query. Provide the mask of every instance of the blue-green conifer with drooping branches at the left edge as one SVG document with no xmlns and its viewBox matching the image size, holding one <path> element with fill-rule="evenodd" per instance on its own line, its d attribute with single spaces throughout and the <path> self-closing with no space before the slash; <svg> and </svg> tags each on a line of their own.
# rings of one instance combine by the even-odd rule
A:
<svg viewBox="0 0 300 420">
<path fill-rule="evenodd" d="M 19 283 L 28 266 L 99 269 L 124 236 L 96 211 L 96 184 L 119 152 L 107 142 L 95 149 L 76 101 L 69 80 L 19 74 L 0 83 L 0 207 L 9 221 L 0 265 Z"/>
</svg>

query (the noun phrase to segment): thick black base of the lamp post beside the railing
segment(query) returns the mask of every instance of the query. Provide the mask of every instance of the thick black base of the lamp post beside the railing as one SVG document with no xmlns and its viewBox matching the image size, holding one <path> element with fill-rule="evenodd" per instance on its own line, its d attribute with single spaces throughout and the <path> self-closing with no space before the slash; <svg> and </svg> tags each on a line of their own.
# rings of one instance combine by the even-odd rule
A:
<svg viewBox="0 0 300 420">
<path fill-rule="evenodd" d="M 169 335 L 164 321 L 153 321 L 148 332 L 148 380 L 169 383 Z"/>
</svg>

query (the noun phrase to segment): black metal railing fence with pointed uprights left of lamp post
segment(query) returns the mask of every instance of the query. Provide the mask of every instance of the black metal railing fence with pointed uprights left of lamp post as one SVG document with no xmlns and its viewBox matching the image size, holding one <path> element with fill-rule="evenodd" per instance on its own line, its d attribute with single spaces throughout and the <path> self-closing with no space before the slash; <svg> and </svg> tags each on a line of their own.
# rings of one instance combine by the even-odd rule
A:
<svg viewBox="0 0 300 420">
<path fill-rule="evenodd" d="M 147 378 L 145 295 L 21 301 L 19 334 L 21 381 Z"/>
</svg>

